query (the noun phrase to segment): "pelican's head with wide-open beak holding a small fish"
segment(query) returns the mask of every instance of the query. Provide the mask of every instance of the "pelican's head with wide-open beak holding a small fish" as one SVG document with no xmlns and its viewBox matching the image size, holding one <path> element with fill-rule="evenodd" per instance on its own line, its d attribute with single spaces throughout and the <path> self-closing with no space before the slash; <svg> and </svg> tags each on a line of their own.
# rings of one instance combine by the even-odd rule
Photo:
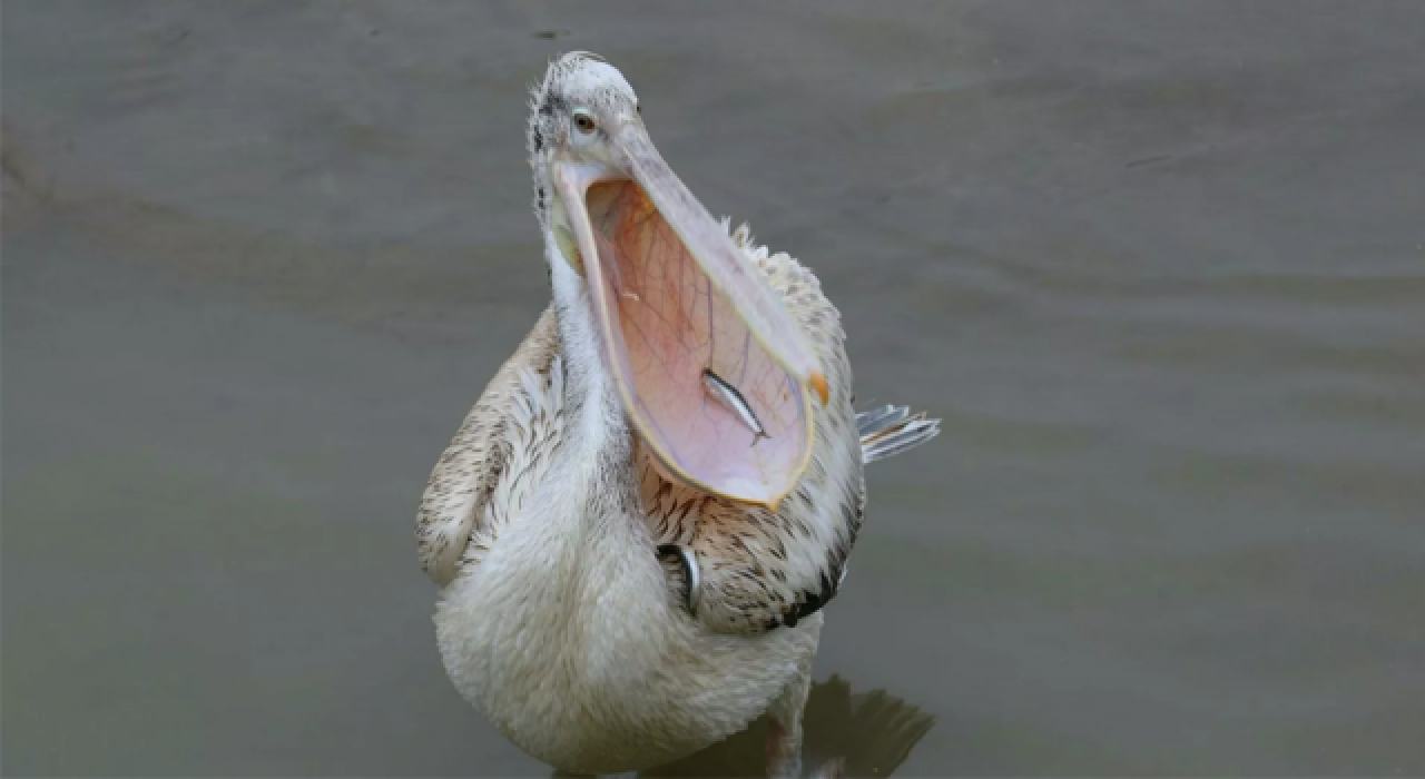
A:
<svg viewBox="0 0 1425 779">
<path fill-rule="evenodd" d="M 801 325 L 663 161 L 616 67 L 587 53 L 550 64 L 529 132 L 561 318 L 596 333 L 593 369 L 631 429 L 664 477 L 775 506 L 828 392 Z"/>
</svg>

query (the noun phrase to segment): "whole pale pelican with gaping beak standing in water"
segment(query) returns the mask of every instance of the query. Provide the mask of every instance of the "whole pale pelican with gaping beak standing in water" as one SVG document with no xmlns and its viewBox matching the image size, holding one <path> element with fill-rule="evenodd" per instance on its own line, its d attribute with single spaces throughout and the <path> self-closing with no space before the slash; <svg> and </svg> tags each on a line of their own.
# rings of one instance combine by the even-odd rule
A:
<svg viewBox="0 0 1425 779">
<path fill-rule="evenodd" d="M 598 56 L 550 64 L 529 158 L 553 300 L 416 517 L 446 672 L 560 770 L 656 766 L 767 713 L 768 769 L 795 775 L 862 466 L 938 422 L 852 410 L 817 276 L 707 212 Z"/>
</svg>

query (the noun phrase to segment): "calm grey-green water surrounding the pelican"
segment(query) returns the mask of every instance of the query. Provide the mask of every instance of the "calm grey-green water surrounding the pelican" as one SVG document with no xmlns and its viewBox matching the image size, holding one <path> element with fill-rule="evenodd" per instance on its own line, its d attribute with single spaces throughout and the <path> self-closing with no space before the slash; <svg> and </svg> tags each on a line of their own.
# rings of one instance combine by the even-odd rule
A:
<svg viewBox="0 0 1425 779">
<path fill-rule="evenodd" d="M 945 419 L 871 469 L 818 659 L 935 718 L 901 773 L 1425 773 L 1421 3 L 30 0 L 3 43 L 6 773 L 547 773 L 445 679 L 410 520 L 547 300 L 569 48 L 818 272 L 862 404 Z"/>
</svg>

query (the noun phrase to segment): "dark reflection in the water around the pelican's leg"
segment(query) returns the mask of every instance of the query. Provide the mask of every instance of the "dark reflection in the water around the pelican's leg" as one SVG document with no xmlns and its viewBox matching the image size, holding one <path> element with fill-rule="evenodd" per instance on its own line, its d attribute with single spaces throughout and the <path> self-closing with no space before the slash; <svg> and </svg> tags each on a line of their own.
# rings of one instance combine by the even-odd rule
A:
<svg viewBox="0 0 1425 779">
<path fill-rule="evenodd" d="M 814 684 L 802 726 L 802 768 L 842 759 L 844 776 L 891 776 L 931 732 L 935 718 L 885 691 L 851 694 L 832 675 Z M 767 776 L 767 718 L 741 733 L 640 776 Z"/>
</svg>

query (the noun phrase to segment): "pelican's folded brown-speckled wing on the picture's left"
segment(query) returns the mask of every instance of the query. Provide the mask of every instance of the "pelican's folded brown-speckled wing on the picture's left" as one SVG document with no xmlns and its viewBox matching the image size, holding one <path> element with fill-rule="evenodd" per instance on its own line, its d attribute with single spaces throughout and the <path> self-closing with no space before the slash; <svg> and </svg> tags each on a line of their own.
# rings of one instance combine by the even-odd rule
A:
<svg viewBox="0 0 1425 779">
<path fill-rule="evenodd" d="M 540 412 L 549 382 L 557 382 L 559 328 L 550 306 L 514 355 L 496 372 L 446 447 L 416 511 L 420 568 L 436 584 L 455 578 L 470 540 L 487 545 L 506 501 L 502 476 L 529 467 L 532 454 L 557 440 Z M 547 460 L 534 457 L 534 460 Z M 492 500 L 492 497 L 494 500 Z"/>
</svg>

